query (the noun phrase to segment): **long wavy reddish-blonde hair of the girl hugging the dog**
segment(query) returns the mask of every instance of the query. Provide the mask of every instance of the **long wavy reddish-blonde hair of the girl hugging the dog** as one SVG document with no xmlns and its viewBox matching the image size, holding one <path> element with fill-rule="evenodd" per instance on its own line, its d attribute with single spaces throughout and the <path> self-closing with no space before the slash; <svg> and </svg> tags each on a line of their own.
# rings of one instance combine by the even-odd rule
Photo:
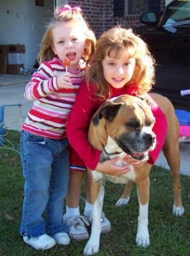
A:
<svg viewBox="0 0 190 256">
<path fill-rule="evenodd" d="M 122 55 L 123 49 L 129 52 L 129 58 L 135 58 L 136 65 L 131 81 L 125 84 L 136 83 L 138 93 L 143 94 L 152 88 L 155 77 L 155 60 L 148 51 L 148 47 L 132 29 L 124 29 L 120 26 L 104 32 L 97 41 L 96 50 L 89 61 L 90 67 L 86 71 L 86 82 L 93 83 L 97 88 L 97 94 L 103 100 L 111 97 L 111 90 L 104 78 L 102 60 L 106 54 L 110 57 L 111 52 L 116 52 L 115 58 Z M 107 53 L 108 51 L 108 53 Z"/>
</svg>

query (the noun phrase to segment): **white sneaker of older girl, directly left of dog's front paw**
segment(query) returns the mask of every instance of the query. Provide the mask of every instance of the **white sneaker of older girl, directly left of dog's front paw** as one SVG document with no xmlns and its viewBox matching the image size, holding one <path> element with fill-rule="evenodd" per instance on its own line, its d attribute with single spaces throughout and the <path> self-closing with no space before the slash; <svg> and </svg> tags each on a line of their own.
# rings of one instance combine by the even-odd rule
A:
<svg viewBox="0 0 190 256">
<path fill-rule="evenodd" d="M 89 226 L 88 221 L 84 216 L 77 215 L 71 218 L 66 218 L 66 214 L 63 216 L 63 221 L 67 223 L 69 228 L 69 236 L 75 241 L 86 240 L 89 238 L 89 234 L 86 225 Z"/>
</svg>

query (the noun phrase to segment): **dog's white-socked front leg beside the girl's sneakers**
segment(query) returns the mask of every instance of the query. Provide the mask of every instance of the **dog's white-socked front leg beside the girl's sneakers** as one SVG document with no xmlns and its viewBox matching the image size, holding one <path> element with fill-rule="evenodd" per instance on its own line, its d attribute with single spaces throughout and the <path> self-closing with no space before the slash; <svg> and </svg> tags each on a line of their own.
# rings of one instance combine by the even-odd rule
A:
<svg viewBox="0 0 190 256">
<path fill-rule="evenodd" d="M 92 225 L 91 235 L 88 243 L 84 247 L 84 255 L 94 255 L 99 252 L 100 246 L 100 232 L 101 232 L 101 214 L 104 202 L 104 184 L 103 181 L 94 182 L 91 185 L 91 191 L 99 191 L 97 199 L 95 200 L 92 207 Z"/>
</svg>

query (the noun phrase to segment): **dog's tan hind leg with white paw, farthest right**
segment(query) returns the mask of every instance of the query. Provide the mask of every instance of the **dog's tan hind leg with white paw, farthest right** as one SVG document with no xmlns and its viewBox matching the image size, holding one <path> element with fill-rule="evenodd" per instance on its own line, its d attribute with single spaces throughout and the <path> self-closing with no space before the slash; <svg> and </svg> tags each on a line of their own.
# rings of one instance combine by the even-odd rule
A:
<svg viewBox="0 0 190 256">
<path fill-rule="evenodd" d="M 173 214 L 182 216 L 184 207 L 182 205 L 181 185 L 180 185 L 180 150 L 178 143 L 178 121 L 174 111 L 170 114 L 168 122 L 168 133 L 164 143 L 163 152 L 173 175 Z M 172 132 L 171 132 L 172 131 Z"/>
</svg>

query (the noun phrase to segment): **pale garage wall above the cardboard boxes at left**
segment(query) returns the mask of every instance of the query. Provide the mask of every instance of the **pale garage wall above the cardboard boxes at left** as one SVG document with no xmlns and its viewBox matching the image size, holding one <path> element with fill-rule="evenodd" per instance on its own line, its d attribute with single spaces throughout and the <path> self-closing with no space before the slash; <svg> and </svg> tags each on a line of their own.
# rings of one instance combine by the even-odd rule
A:
<svg viewBox="0 0 190 256">
<path fill-rule="evenodd" d="M 44 6 L 36 6 L 35 0 L 0 0 L 0 5 L 0 44 L 24 44 L 25 67 L 33 67 L 53 1 L 44 0 Z"/>
</svg>

